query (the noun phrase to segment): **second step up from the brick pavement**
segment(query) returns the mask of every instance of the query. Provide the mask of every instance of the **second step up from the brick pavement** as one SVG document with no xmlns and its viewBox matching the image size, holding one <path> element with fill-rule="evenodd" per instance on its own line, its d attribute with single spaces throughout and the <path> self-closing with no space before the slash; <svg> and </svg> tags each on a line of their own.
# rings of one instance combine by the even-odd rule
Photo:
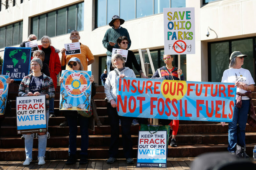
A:
<svg viewBox="0 0 256 170">
<path fill-rule="evenodd" d="M 68 146 L 68 135 L 61 136 L 60 134 L 53 135 L 50 133 L 51 138 L 47 140 L 47 146 L 49 147 L 66 147 Z M 1 147 L 22 147 L 24 145 L 23 139 L 18 136 L 5 136 L 1 137 Z M 37 140 L 37 139 L 35 139 Z M 246 132 L 245 141 L 252 143 L 256 141 L 256 132 Z M 138 135 L 132 135 L 133 145 L 138 144 Z M 228 143 L 228 133 L 180 133 L 176 136 L 177 144 L 218 144 Z M 90 146 L 108 146 L 110 144 L 110 134 L 102 135 L 89 135 Z M 122 145 L 122 135 L 119 136 L 119 144 Z M 81 136 L 77 136 L 77 146 L 81 145 Z M 37 142 L 34 142 L 34 146 L 37 146 Z"/>
</svg>

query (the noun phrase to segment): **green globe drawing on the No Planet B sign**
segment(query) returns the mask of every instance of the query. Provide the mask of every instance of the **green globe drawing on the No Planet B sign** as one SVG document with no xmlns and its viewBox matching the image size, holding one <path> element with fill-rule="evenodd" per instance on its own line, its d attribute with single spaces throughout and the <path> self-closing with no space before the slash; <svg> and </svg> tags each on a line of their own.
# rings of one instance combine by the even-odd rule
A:
<svg viewBox="0 0 256 170">
<path fill-rule="evenodd" d="M 18 63 L 20 65 L 24 64 L 27 60 L 27 55 L 20 49 L 15 49 L 9 52 L 9 57 L 12 59 L 13 66 L 15 67 Z"/>
</svg>

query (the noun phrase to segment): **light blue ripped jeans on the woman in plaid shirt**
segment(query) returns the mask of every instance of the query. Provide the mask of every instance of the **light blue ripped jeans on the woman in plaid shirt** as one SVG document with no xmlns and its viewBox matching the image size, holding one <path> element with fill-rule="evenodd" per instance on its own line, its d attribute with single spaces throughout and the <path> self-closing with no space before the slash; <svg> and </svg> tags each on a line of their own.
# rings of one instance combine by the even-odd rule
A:
<svg viewBox="0 0 256 170">
<path fill-rule="evenodd" d="M 48 130 L 48 121 L 49 121 L 49 112 L 46 112 L 46 125 Z M 32 159 L 32 150 L 33 150 L 33 140 L 34 140 L 34 133 L 30 135 L 23 135 L 25 138 L 25 152 L 26 158 Z M 42 157 L 45 155 L 46 150 L 46 143 L 47 143 L 47 134 L 45 135 L 38 135 L 38 157 Z"/>
</svg>

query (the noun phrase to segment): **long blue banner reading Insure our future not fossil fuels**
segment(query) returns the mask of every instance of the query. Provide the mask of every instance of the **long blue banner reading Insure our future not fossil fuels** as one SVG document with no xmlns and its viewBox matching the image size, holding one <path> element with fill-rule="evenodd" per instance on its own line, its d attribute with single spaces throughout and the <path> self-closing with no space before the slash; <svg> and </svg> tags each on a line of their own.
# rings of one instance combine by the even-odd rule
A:
<svg viewBox="0 0 256 170">
<path fill-rule="evenodd" d="M 234 83 L 119 78 L 119 116 L 231 122 Z"/>
</svg>

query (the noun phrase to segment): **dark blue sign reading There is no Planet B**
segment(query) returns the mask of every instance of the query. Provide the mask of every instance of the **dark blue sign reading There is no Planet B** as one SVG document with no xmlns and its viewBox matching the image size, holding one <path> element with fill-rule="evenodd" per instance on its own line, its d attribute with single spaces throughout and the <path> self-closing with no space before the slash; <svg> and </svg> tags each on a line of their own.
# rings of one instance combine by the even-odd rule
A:
<svg viewBox="0 0 256 170">
<path fill-rule="evenodd" d="M 30 47 L 5 47 L 2 74 L 14 80 L 22 80 L 29 74 L 30 55 Z"/>
</svg>

